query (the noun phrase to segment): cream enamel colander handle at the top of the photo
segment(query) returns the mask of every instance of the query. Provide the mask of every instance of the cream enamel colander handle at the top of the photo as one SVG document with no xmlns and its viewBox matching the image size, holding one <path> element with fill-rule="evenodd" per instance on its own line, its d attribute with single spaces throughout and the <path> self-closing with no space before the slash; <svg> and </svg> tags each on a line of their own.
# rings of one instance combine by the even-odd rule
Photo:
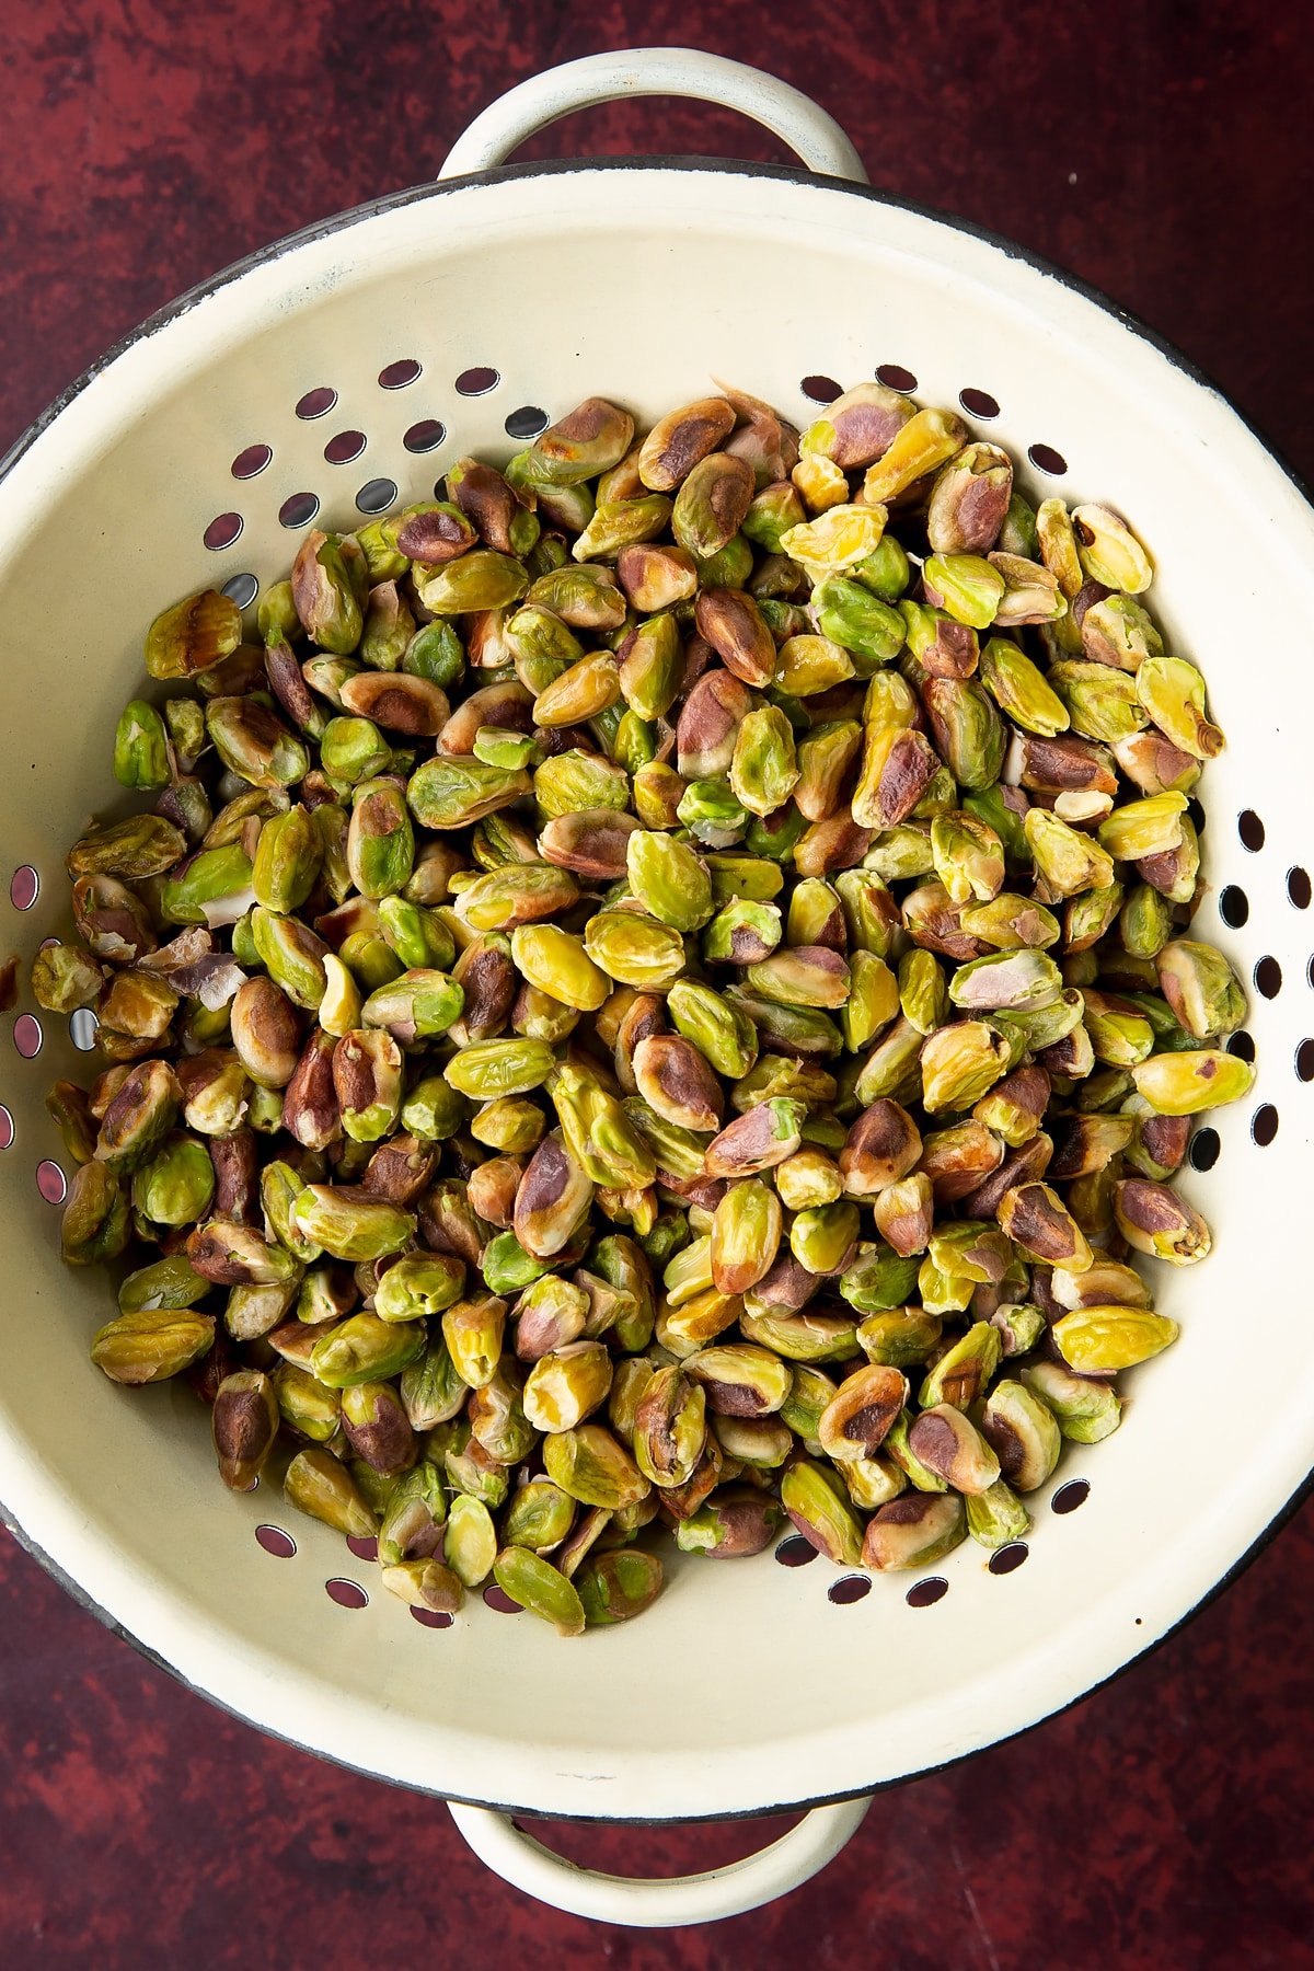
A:
<svg viewBox="0 0 1314 1971">
<path fill-rule="evenodd" d="M 548 124 L 617 97 L 697 97 L 753 116 L 798 152 L 810 171 L 867 183 L 863 160 L 833 116 L 776 75 L 697 47 L 623 47 L 532 75 L 481 110 L 453 144 L 439 177 L 487 171 Z"/>
</svg>

